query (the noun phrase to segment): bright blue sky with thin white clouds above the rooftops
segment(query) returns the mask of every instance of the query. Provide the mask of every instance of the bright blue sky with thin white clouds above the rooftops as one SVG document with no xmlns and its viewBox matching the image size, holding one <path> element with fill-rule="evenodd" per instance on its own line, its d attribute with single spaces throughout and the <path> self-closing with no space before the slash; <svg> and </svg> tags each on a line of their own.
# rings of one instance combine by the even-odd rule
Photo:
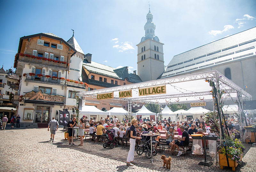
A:
<svg viewBox="0 0 256 172">
<path fill-rule="evenodd" d="M 150 0 L 164 65 L 173 56 L 256 26 L 255 0 Z M 92 61 L 137 70 L 148 0 L 0 0 L 0 66 L 13 66 L 19 39 L 37 33 L 75 38 Z"/>
</svg>

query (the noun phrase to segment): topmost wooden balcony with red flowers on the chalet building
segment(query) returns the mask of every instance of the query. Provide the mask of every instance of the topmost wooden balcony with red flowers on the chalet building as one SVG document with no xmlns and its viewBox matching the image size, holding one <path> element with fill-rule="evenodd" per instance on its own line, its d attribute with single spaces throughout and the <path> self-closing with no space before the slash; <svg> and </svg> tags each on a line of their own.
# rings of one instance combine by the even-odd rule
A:
<svg viewBox="0 0 256 172">
<path fill-rule="evenodd" d="M 66 69 L 67 68 L 67 64 L 55 63 L 55 62 L 48 61 L 48 60 L 33 59 L 30 57 L 19 56 L 18 61 L 27 62 L 29 64 L 40 64 L 42 66 L 50 66 L 50 67 L 54 67 L 54 68 L 58 68 L 58 69 L 63 69 L 63 68 Z"/>
</svg>

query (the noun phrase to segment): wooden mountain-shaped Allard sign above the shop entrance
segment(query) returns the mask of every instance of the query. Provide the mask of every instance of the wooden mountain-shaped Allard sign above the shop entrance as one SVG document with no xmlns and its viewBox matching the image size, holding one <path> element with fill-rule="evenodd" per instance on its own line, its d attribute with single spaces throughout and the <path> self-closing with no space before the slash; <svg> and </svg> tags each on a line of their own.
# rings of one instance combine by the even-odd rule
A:
<svg viewBox="0 0 256 172">
<path fill-rule="evenodd" d="M 42 93 L 41 90 L 39 90 L 37 93 L 35 91 L 31 91 L 29 93 L 26 93 L 24 95 L 26 100 L 41 100 L 41 101 L 49 101 L 49 102 L 64 102 L 65 97 L 59 96 L 59 95 L 49 95 Z"/>
</svg>

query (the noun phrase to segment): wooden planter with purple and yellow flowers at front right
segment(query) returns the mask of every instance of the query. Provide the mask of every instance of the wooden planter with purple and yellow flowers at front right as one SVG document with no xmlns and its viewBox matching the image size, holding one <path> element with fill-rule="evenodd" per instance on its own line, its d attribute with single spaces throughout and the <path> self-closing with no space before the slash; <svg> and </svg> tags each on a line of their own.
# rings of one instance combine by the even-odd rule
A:
<svg viewBox="0 0 256 172">
<path fill-rule="evenodd" d="M 229 162 L 229 167 L 232 167 L 232 170 L 235 171 L 236 166 L 241 163 L 244 150 L 245 147 L 240 140 L 233 140 L 232 138 L 226 136 L 225 143 L 223 145 L 220 145 L 218 150 L 220 168 L 223 169 L 223 166 L 228 166 Z M 228 154 L 228 162 L 226 154 Z"/>
</svg>

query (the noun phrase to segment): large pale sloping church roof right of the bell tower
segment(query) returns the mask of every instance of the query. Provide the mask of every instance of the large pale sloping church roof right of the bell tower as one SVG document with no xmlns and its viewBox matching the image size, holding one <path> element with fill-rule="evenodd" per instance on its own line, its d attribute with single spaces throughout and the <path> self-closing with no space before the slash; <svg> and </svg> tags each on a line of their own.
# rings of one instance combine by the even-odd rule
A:
<svg viewBox="0 0 256 172">
<path fill-rule="evenodd" d="M 256 27 L 183 52 L 172 58 L 161 78 L 255 55 Z"/>
</svg>

